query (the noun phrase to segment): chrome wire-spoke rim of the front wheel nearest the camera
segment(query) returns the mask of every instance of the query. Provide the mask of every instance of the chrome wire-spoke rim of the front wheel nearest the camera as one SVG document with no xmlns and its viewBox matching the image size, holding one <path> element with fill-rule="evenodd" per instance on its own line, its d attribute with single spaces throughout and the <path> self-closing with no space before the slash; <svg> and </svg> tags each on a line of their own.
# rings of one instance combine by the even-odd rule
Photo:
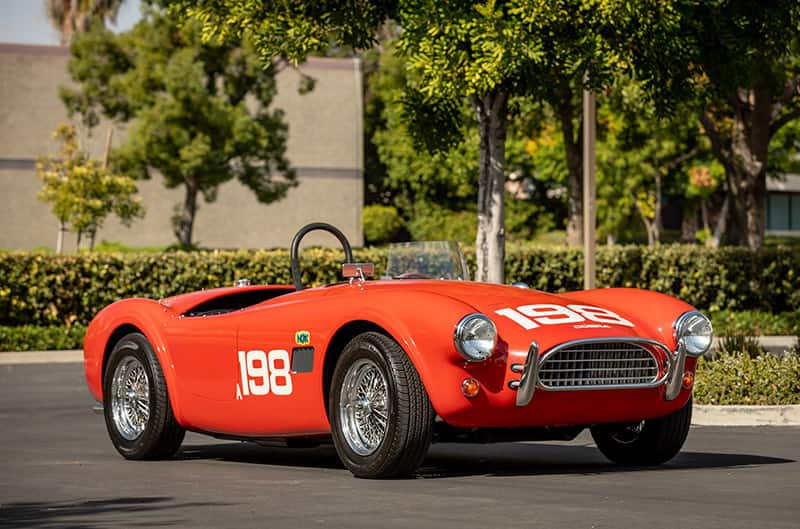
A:
<svg viewBox="0 0 800 529">
<path fill-rule="evenodd" d="M 343 382 L 339 400 L 342 433 L 356 454 L 368 456 L 386 437 L 389 385 L 377 364 L 367 358 L 354 362 Z"/>
</svg>

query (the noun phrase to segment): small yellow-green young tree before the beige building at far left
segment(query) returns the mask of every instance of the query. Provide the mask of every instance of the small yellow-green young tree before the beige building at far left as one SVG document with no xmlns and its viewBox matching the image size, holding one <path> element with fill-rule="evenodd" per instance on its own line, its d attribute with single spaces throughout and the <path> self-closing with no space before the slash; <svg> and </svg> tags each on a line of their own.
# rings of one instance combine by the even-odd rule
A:
<svg viewBox="0 0 800 529">
<path fill-rule="evenodd" d="M 91 250 L 97 230 L 109 214 L 114 213 L 125 225 L 144 215 L 141 199 L 134 196 L 133 179 L 113 174 L 97 160 L 90 159 L 78 147 L 73 126 L 61 125 L 53 137 L 61 141 L 61 152 L 56 157 L 39 159 L 36 171 L 43 182 L 38 198 L 52 205 L 60 224 L 58 253 L 63 249 L 67 226 L 78 235 L 78 248 L 82 235 L 88 233 Z"/>
</svg>

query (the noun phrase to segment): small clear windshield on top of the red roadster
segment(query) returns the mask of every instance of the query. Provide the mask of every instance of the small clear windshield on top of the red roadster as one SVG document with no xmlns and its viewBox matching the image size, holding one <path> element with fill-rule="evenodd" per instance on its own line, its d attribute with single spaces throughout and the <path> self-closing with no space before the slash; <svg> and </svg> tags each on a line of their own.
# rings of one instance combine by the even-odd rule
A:
<svg viewBox="0 0 800 529">
<path fill-rule="evenodd" d="M 386 275 L 392 279 L 469 281 L 467 261 L 454 241 L 395 243 L 389 247 Z"/>
</svg>

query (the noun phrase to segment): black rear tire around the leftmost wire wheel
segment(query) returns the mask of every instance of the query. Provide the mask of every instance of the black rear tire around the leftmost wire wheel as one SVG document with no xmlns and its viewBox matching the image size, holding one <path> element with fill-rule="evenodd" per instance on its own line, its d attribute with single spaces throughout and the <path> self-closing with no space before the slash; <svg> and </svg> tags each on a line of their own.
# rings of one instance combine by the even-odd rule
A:
<svg viewBox="0 0 800 529">
<path fill-rule="evenodd" d="M 124 385 L 129 381 L 125 374 L 129 373 L 133 377 L 136 372 L 147 383 L 146 390 L 142 385 L 134 384 L 141 389 L 141 393 L 137 395 L 141 397 L 139 400 L 144 402 L 144 396 L 147 395 L 146 419 L 143 414 L 135 411 L 126 413 L 126 399 L 120 396 L 115 398 L 113 394 L 114 389 L 118 389 L 121 395 L 123 388 L 120 382 Z M 120 380 L 115 388 L 116 375 L 120 375 Z M 136 408 L 131 405 L 127 409 L 130 410 L 131 407 Z M 147 338 L 140 333 L 124 336 L 111 351 L 103 376 L 103 414 L 111 442 L 125 459 L 169 458 L 178 451 L 183 442 L 186 431 L 177 423 L 172 413 L 161 365 Z"/>
</svg>

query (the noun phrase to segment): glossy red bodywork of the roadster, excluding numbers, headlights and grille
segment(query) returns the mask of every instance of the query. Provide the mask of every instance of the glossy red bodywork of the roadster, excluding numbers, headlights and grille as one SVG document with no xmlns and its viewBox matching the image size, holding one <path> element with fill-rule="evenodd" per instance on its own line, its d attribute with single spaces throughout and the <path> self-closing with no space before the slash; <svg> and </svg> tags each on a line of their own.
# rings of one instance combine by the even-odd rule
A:
<svg viewBox="0 0 800 529">
<path fill-rule="evenodd" d="M 242 291 L 269 291 L 277 297 L 232 313 L 188 317 L 190 309 Z M 453 346 L 453 329 L 466 314 L 532 304 L 584 304 L 612 310 L 633 326 L 585 322 L 542 325 L 526 330 L 494 317 L 498 347 L 481 364 L 467 362 Z M 309 436 L 330 433 L 325 408 L 325 361 L 342 335 L 365 328 L 382 329 L 406 351 L 422 379 L 437 415 L 456 427 L 562 426 L 625 422 L 667 415 L 691 395 L 683 388 L 665 399 L 665 385 L 646 389 L 538 392 L 528 406 L 515 404 L 509 387 L 519 374 L 532 341 L 546 352 L 563 342 L 598 337 L 654 339 L 671 351 L 677 347 L 673 322 L 692 307 L 649 291 L 597 289 L 562 295 L 461 281 L 403 280 L 341 284 L 294 292 L 292 287 L 232 287 L 195 292 L 161 301 L 126 299 L 103 309 L 92 321 L 84 345 L 86 380 L 103 400 L 103 361 L 113 335 L 126 326 L 153 344 L 169 387 L 178 422 L 189 430 L 252 437 Z M 588 328 L 586 327 L 587 325 Z M 576 328 L 577 327 L 577 328 Z M 351 329 L 351 330 L 348 330 Z M 241 350 L 297 348 L 295 333 L 308 331 L 315 348 L 311 372 L 292 374 L 290 395 L 236 398 Z M 667 365 L 656 349 L 659 363 Z M 685 369 L 693 372 L 695 360 Z M 481 385 L 475 398 L 461 391 L 465 378 Z M 328 381 L 329 382 L 329 381 Z"/>
</svg>

